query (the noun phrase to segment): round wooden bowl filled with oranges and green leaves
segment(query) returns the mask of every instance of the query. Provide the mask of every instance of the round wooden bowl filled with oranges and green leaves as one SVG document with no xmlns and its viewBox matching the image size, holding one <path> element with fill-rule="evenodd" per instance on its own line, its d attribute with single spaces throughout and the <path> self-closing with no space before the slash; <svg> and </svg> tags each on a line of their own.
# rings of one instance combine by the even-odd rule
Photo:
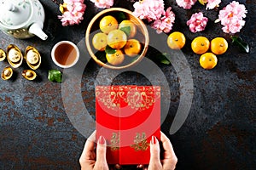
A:
<svg viewBox="0 0 256 170">
<path fill-rule="evenodd" d="M 96 14 L 87 27 L 85 44 L 92 59 L 109 69 L 125 69 L 140 62 L 148 50 L 148 30 L 125 8 Z"/>
</svg>

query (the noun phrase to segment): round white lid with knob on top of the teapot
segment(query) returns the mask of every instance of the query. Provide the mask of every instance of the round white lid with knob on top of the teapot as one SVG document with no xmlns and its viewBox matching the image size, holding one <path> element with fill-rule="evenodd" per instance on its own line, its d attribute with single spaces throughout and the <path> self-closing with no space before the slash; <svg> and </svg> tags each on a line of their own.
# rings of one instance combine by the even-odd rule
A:
<svg viewBox="0 0 256 170">
<path fill-rule="evenodd" d="M 3 26 L 20 26 L 32 17 L 31 0 L 0 0 L 0 23 Z"/>
</svg>

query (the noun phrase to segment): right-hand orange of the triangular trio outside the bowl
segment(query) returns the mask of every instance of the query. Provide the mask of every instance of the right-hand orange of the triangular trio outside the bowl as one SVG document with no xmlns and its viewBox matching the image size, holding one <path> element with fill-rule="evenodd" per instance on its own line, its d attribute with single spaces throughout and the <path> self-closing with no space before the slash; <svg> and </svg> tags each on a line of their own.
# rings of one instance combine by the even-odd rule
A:
<svg viewBox="0 0 256 170">
<path fill-rule="evenodd" d="M 228 49 L 229 43 L 223 37 L 215 37 L 211 41 L 211 50 L 214 54 L 224 54 Z"/>
</svg>

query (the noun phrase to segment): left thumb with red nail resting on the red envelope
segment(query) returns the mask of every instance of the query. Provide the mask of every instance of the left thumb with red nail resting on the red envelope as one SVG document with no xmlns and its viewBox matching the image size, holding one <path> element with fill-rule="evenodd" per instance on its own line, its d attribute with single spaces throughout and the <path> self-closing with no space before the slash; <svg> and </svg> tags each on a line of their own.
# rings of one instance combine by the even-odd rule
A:
<svg viewBox="0 0 256 170">
<path fill-rule="evenodd" d="M 100 138 L 98 139 L 97 148 L 96 148 L 96 161 L 101 163 L 107 163 L 106 153 L 107 153 L 106 140 L 104 139 L 103 136 L 100 136 Z"/>
</svg>

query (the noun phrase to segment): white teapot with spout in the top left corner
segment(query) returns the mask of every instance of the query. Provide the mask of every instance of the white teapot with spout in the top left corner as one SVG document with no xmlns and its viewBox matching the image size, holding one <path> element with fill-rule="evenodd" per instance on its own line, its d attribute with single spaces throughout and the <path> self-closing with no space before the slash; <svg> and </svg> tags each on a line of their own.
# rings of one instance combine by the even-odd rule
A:
<svg viewBox="0 0 256 170">
<path fill-rule="evenodd" d="M 12 37 L 36 35 L 46 40 L 44 18 L 44 8 L 38 0 L 0 0 L 0 30 Z"/>
</svg>

